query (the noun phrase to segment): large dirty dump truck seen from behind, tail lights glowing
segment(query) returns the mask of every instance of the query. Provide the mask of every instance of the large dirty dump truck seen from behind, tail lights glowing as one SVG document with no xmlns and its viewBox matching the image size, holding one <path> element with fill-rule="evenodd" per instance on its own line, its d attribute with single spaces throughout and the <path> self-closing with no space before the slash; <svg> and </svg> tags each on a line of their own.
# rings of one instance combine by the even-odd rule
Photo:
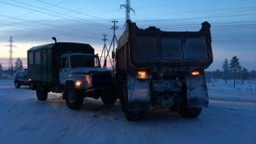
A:
<svg viewBox="0 0 256 144">
<path fill-rule="evenodd" d="M 154 106 L 197 117 L 209 103 L 204 69 L 212 62 L 208 22 L 199 31 L 161 31 L 128 21 L 114 76 L 126 118 L 139 120 Z"/>
</svg>

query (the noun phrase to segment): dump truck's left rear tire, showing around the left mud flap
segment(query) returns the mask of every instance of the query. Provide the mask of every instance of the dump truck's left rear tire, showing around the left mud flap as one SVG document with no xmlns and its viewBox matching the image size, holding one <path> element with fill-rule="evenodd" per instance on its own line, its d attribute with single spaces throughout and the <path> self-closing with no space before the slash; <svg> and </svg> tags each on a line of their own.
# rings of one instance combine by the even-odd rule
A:
<svg viewBox="0 0 256 144">
<path fill-rule="evenodd" d="M 141 120 L 143 119 L 144 112 L 143 111 L 136 111 L 128 109 L 128 97 L 127 97 L 127 88 L 123 87 L 121 90 L 122 94 L 120 96 L 121 101 L 121 109 L 125 113 L 125 117 L 129 121 Z"/>
</svg>

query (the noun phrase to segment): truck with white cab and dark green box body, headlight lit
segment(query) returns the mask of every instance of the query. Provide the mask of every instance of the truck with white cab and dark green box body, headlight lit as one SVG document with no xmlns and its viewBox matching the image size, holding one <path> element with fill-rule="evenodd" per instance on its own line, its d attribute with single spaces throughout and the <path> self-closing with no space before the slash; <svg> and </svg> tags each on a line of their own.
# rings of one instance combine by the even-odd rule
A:
<svg viewBox="0 0 256 144">
<path fill-rule="evenodd" d="M 113 72 L 101 68 L 98 54 L 89 44 L 56 42 L 28 50 L 28 78 L 37 98 L 61 93 L 70 109 L 80 109 L 83 98 L 102 98 L 106 105 L 117 100 Z M 113 93 L 113 94 L 112 94 Z"/>
</svg>

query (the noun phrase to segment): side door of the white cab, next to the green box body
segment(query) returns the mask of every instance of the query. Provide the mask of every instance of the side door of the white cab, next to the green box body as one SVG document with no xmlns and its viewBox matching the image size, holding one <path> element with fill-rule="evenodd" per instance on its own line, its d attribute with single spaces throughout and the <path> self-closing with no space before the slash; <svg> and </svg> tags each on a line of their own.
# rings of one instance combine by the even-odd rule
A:
<svg viewBox="0 0 256 144">
<path fill-rule="evenodd" d="M 69 77 L 69 57 L 61 57 L 61 69 L 59 70 L 59 83 L 65 84 Z"/>
</svg>

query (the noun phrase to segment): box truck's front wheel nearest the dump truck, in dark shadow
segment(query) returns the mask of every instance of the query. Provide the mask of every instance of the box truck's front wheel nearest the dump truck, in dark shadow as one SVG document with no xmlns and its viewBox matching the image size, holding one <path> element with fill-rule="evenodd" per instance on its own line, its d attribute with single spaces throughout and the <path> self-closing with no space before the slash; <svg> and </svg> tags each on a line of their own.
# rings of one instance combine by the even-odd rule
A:
<svg viewBox="0 0 256 144">
<path fill-rule="evenodd" d="M 117 101 L 117 93 L 113 88 L 108 88 L 103 92 L 101 98 L 105 105 L 113 105 Z"/>
</svg>

